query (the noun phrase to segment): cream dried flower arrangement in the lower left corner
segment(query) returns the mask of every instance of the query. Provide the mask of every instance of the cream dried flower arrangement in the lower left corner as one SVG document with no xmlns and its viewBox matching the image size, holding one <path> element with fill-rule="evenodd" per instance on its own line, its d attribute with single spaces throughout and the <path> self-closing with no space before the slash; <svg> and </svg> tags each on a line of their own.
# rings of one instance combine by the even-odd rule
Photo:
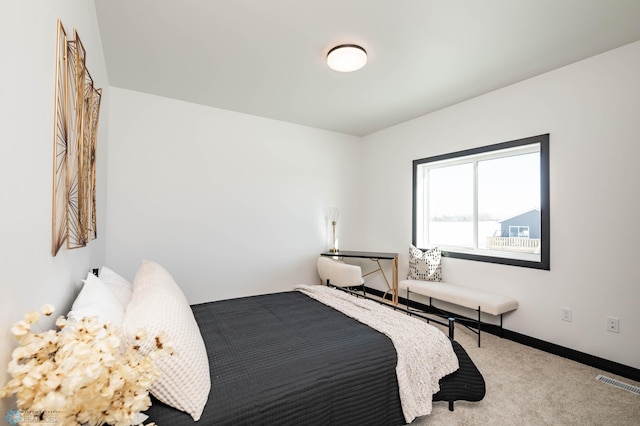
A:
<svg viewBox="0 0 640 426">
<path fill-rule="evenodd" d="M 53 311 L 51 305 L 41 308 L 45 316 Z M 165 336 L 156 336 L 155 348 L 143 354 L 137 342 L 146 338 L 144 332 L 125 345 L 119 329 L 97 317 L 60 316 L 58 330 L 33 332 L 39 319 L 39 312 L 29 312 L 11 328 L 19 346 L 0 397 L 16 395 L 15 414 L 36 413 L 38 422 L 64 426 L 136 424 L 151 406 L 149 387 L 160 374 L 154 359 L 173 354 Z"/>
</svg>

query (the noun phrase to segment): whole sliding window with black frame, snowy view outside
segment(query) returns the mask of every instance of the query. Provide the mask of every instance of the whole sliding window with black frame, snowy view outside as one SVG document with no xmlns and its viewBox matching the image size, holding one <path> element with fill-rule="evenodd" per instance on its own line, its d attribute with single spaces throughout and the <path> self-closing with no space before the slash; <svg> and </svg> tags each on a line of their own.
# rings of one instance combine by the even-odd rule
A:
<svg viewBox="0 0 640 426">
<path fill-rule="evenodd" d="M 413 244 L 549 269 L 549 135 L 413 162 Z"/>
</svg>

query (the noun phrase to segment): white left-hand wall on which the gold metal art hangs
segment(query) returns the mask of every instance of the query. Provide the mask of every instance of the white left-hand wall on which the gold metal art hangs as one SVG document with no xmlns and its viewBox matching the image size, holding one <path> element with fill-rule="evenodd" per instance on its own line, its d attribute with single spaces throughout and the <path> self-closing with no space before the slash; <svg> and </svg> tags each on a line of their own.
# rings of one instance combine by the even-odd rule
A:
<svg viewBox="0 0 640 426">
<path fill-rule="evenodd" d="M 96 87 L 105 91 L 98 135 L 98 239 L 51 256 L 56 22 L 75 27 Z M 81 278 L 104 261 L 108 91 L 93 2 L 0 0 L 0 384 L 15 346 L 11 325 L 45 303 L 66 313 Z M 10 399 L 0 401 L 4 416 Z"/>
</svg>

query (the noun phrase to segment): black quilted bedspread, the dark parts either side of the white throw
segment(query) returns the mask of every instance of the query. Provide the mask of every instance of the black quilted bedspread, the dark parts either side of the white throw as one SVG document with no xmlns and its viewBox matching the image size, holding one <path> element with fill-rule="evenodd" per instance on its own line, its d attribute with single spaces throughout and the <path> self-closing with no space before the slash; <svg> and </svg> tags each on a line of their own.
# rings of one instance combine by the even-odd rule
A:
<svg viewBox="0 0 640 426">
<path fill-rule="evenodd" d="M 406 423 L 397 354 L 384 334 L 299 291 L 191 308 L 209 360 L 211 390 L 204 411 L 195 422 L 152 399 L 148 421 L 160 426 Z M 440 380 L 433 400 L 481 400 L 482 375 L 462 346 L 451 343 L 460 368 Z"/>
</svg>

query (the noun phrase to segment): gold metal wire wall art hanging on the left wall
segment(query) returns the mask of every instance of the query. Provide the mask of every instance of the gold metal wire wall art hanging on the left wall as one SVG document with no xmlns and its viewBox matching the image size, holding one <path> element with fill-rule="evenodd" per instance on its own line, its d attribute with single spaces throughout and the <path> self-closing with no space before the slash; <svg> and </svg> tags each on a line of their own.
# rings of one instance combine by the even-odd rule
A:
<svg viewBox="0 0 640 426">
<path fill-rule="evenodd" d="M 67 38 L 58 20 L 53 150 L 51 254 L 84 247 L 97 237 L 96 139 L 102 89 L 86 66 L 78 32 Z"/>
</svg>

